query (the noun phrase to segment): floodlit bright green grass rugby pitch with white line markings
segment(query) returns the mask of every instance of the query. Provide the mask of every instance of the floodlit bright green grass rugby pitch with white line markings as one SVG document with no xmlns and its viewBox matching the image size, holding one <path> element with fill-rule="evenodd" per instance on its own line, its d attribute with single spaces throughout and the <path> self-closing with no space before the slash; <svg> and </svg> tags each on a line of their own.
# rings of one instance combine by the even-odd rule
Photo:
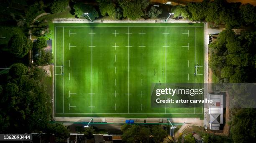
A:
<svg viewBox="0 0 256 143">
<path fill-rule="evenodd" d="M 152 83 L 202 83 L 203 23 L 54 24 L 57 117 L 203 117 L 151 108 Z"/>
</svg>

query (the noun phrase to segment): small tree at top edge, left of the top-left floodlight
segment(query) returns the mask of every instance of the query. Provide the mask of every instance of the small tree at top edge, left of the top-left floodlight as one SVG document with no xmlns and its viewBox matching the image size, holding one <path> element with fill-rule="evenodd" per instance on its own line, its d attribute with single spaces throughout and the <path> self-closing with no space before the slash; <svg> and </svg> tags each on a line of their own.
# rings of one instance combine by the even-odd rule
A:
<svg viewBox="0 0 256 143">
<path fill-rule="evenodd" d="M 69 5 L 69 0 L 54 0 L 51 2 L 50 10 L 51 13 L 60 13 L 63 12 L 66 7 Z"/>
</svg>

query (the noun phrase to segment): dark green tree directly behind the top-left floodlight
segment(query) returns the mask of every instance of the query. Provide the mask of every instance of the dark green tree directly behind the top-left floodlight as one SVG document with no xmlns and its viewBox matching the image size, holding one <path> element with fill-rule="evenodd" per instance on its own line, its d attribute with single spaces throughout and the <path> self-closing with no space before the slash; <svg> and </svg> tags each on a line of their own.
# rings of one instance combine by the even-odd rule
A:
<svg viewBox="0 0 256 143">
<path fill-rule="evenodd" d="M 92 5 L 86 5 L 82 2 L 78 2 L 74 5 L 74 13 L 79 18 L 81 16 L 84 16 L 84 13 L 89 13 L 89 16 L 91 20 L 95 20 L 95 18 L 99 17 L 98 12 L 95 10 L 95 8 Z M 86 19 L 89 20 L 87 16 L 85 16 Z"/>
</svg>

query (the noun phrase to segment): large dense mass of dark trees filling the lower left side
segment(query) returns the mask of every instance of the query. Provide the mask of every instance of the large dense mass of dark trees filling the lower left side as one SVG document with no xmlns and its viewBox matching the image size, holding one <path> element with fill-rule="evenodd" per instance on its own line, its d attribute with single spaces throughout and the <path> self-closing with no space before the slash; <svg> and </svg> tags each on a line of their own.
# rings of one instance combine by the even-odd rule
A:
<svg viewBox="0 0 256 143">
<path fill-rule="evenodd" d="M 0 133 L 43 131 L 51 119 L 46 86 L 33 79 L 33 70 L 27 71 L 23 64 L 14 64 L 8 80 L 1 85 Z"/>
</svg>

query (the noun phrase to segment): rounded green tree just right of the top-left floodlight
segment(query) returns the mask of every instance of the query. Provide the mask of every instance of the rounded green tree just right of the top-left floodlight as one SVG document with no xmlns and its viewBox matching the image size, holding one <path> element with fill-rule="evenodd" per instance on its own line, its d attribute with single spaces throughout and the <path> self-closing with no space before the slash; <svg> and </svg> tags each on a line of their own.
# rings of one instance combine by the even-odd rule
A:
<svg viewBox="0 0 256 143">
<path fill-rule="evenodd" d="M 99 4 L 100 6 L 100 13 L 102 16 L 105 16 L 106 14 L 108 14 L 110 17 L 115 18 L 117 16 L 117 12 L 115 10 L 115 4 L 113 4 L 112 2 L 101 2 Z"/>
</svg>

